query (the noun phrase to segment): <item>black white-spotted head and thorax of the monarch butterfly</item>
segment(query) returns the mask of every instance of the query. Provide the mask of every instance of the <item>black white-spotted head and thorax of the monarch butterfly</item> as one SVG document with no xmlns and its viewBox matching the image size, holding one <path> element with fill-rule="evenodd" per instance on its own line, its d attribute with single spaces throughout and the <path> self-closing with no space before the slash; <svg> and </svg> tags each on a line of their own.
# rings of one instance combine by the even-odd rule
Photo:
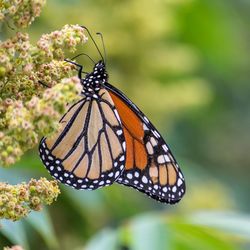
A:
<svg viewBox="0 0 250 250">
<path fill-rule="evenodd" d="M 83 85 L 82 94 L 85 96 L 93 96 L 104 87 L 104 83 L 108 80 L 108 74 L 105 69 L 105 63 L 99 61 L 95 64 L 93 71 L 81 79 Z"/>
</svg>

